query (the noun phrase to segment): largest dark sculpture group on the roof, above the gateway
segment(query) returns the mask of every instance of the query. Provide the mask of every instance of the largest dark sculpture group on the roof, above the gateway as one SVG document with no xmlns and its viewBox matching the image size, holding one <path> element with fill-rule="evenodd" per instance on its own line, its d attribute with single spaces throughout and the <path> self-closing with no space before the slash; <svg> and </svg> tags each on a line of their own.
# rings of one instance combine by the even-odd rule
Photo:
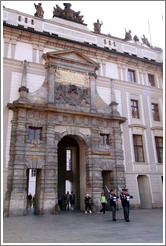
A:
<svg viewBox="0 0 166 246">
<path fill-rule="evenodd" d="M 72 10 L 70 3 L 64 3 L 63 5 L 65 6 L 64 9 L 61 9 L 58 5 L 54 7 L 53 17 L 60 17 L 60 18 L 75 21 L 78 23 L 84 22 L 83 21 L 84 16 L 80 15 L 80 11 L 75 12 L 74 10 Z"/>
</svg>

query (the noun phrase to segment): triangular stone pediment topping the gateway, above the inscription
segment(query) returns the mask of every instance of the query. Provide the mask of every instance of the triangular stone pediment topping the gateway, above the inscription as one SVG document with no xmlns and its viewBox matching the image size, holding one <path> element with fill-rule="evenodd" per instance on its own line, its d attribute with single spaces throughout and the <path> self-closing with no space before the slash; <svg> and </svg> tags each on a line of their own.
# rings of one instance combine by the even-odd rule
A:
<svg viewBox="0 0 166 246">
<path fill-rule="evenodd" d="M 87 64 L 95 67 L 99 66 L 97 62 L 93 61 L 92 59 L 82 54 L 81 52 L 75 50 L 60 50 L 60 51 L 47 52 L 46 54 L 43 55 L 43 58 L 45 60 L 61 59 L 61 60 L 66 60 L 68 62 L 72 61 L 72 62 Z"/>
</svg>

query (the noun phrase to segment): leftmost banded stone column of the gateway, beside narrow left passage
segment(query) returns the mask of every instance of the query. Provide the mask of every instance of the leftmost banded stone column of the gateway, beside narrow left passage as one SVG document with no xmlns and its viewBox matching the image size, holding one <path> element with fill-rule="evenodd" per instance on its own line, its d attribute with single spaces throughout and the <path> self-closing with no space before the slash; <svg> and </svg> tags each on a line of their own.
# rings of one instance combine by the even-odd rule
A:
<svg viewBox="0 0 166 246">
<path fill-rule="evenodd" d="M 27 205 L 27 176 L 25 167 L 25 141 L 26 141 L 26 110 L 18 111 L 15 136 L 12 136 L 10 153 L 13 152 L 13 160 L 10 160 L 12 171 L 9 202 L 9 215 L 25 215 Z M 15 143 L 14 143 L 15 142 Z M 10 169 L 10 168 L 9 168 Z"/>
</svg>

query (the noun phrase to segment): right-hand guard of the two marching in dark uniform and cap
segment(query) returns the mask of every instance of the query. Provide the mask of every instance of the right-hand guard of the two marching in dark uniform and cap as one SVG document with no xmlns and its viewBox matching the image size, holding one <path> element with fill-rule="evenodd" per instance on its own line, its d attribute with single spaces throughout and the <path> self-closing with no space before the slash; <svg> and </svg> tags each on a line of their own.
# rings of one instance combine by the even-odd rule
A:
<svg viewBox="0 0 166 246">
<path fill-rule="evenodd" d="M 130 210 L 129 200 L 133 198 L 133 196 L 130 196 L 128 194 L 128 189 L 122 189 L 122 191 L 123 192 L 120 194 L 120 199 L 121 199 L 122 206 L 123 206 L 124 219 L 126 220 L 126 222 L 130 222 L 129 220 L 129 210 Z"/>
</svg>

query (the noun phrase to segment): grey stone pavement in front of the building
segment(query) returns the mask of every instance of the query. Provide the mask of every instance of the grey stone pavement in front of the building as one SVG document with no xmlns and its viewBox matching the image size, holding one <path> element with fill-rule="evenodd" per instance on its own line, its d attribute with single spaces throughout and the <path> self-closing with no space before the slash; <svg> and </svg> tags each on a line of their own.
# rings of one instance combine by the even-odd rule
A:
<svg viewBox="0 0 166 246">
<path fill-rule="evenodd" d="M 163 243 L 162 209 L 130 211 L 130 222 L 117 211 L 85 214 L 61 211 L 59 215 L 5 217 L 3 243 Z"/>
</svg>

